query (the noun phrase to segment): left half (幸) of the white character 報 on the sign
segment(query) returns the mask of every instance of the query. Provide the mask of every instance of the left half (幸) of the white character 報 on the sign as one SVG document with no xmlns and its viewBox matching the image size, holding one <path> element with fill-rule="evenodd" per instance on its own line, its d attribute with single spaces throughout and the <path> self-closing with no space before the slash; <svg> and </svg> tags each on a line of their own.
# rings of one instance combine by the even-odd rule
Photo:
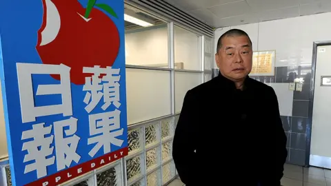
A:
<svg viewBox="0 0 331 186">
<path fill-rule="evenodd" d="M 27 150 L 28 154 L 24 156 L 23 163 L 34 161 L 26 165 L 24 174 L 37 171 L 37 178 L 47 176 L 47 167 L 54 164 L 55 157 L 49 157 L 53 153 L 54 147 L 50 147 L 53 142 L 54 136 L 45 137 L 50 134 L 52 125 L 44 127 L 45 123 L 32 125 L 32 130 L 27 130 L 22 133 L 22 140 L 32 138 L 32 141 L 23 143 L 22 151 Z"/>
</svg>

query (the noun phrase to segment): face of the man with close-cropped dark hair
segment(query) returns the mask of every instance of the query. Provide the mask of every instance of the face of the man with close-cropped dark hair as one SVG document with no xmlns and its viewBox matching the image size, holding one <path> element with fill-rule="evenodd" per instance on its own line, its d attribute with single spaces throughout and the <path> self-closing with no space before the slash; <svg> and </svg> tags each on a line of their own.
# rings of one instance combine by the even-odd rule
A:
<svg viewBox="0 0 331 186">
<path fill-rule="evenodd" d="M 215 56 L 221 74 L 232 81 L 241 81 L 252 70 L 252 45 L 245 36 L 230 36 L 222 39 Z"/>
</svg>

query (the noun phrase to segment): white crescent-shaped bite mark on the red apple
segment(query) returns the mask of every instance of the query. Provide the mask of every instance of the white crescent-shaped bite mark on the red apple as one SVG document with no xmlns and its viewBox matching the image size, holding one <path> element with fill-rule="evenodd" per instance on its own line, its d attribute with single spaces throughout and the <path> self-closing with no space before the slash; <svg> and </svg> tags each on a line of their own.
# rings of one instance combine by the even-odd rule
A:
<svg viewBox="0 0 331 186">
<path fill-rule="evenodd" d="M 46 0 L 46 8 L 46 27 L 41 32 L 41 46 L 54 41 L 61 27 L 59 11 L 51 0 Z"/>
</svg>

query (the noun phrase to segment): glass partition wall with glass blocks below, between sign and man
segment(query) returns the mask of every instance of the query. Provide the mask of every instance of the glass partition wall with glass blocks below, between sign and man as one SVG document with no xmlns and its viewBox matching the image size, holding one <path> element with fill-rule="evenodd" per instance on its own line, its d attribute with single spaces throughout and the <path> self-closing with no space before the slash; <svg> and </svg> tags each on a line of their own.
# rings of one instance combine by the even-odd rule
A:
<svg viewBox="0 0 331 186">
<path fill-rule="evenodd" d="M 212 77 L 212 38 L 132 6 L 125 10 L 150 23 L 125 23 L 129 155 L 64 185 L 170 183 L 177 176 L 172 140 L 183 97 Z M 7 165 L 0 169 L 10 176 Z"/>
</svg>

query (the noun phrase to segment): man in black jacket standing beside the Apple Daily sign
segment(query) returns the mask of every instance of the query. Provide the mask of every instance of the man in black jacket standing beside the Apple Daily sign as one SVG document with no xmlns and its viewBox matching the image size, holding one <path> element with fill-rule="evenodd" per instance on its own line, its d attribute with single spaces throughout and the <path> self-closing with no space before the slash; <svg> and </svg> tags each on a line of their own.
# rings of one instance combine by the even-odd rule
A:
<svg viewBox="0 0 331 186">
<path fill-rule="evenodd" d="M 219 76 L 189 90 L 172 156 L 187 186 L 279 186 L 286 136 L 272 87 L 250 79 L 252 41 L 225 32 L 215 55 Z"/>
</svg>

